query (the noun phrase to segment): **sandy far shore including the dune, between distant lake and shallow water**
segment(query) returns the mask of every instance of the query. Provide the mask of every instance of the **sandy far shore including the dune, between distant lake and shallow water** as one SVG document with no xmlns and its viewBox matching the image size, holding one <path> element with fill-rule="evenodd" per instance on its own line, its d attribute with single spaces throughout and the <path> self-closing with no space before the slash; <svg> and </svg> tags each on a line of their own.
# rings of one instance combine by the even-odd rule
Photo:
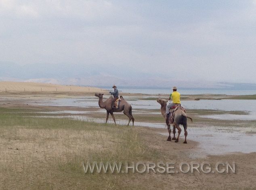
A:
<svg viewBox="0 0 256 190">
<path fill-rule="evenodd" d="M 103 88 L 91 86 L 74 86 L 59 84 L 44 84 L 35 82 L 5 82 L 0 81 L 0 96 L 38 96 L 38 95 L 54 95 L 54 96 L 93 96 L 94 93 L 103 93 L 105 97 L 109 96 L 109 92 Z M 156 98 L 169 97 L 169 94 L 142 94 L 127 93 L 120 91 L 120 96 L 136 97 L 138 100 L 156 100 Z M 240 100 L 256 100 L 254 95 L 225 95 L 225 94 L 191 94 L 181 95 L 181 100 L 222 100 L 222 99 L 240 99 Z M 128 99 L 129 100 L 129 99 Z"/>
</svg>

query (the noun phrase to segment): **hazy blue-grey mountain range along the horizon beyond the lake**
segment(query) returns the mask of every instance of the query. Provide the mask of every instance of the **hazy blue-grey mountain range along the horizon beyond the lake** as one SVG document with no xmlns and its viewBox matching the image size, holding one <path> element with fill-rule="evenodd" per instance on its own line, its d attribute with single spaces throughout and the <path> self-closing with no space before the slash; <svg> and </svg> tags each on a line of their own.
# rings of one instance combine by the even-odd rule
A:
<svg viewBox="0 0 256 190">
<path fill-rule="evenodd" d="M 18 65 L 0 62 L 0 80 L 51 84 L 70 84 L 109 88 L 116 84 L 122 88 L 170 88 L 256 90 L 254 83 L 229 83 L 201 80 L 176 80 L 159 74 L 126 69 L 113 73 L 113 65 L 99 68 L 82 64 L 32 64 Z"/>
</svg>

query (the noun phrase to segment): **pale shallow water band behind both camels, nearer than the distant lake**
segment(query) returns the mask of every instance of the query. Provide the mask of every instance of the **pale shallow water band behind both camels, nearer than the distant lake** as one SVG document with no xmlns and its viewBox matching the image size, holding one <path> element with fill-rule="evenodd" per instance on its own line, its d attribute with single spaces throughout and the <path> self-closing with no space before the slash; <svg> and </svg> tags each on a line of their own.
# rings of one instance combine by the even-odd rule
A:
<svg viewBox="0 0 256 190">
<path fill-rule="evenodd" d="M 126 97 L 124 97 L 126 98 Z M 128 100 L 132 105 L 133 110 L 136 109 L 159 109 L 160 104 L 156 100 Z M 38 100 L 31 102 L 31 105 L 44 105 L 44 106 L 76 106 L 82 108 L 98 108 L 98 98 L 91 96 L 76 97 L 76 98 L 56 98 L 48 100 Z M 224 111 L 244 111 L 248 114 L 219 114 L 207 115 L 202 117 L 225 119 L 225 120 L 256 120 L 256 100 L 184 100 L 182 106 L 186 109 L 206 109 L 206 110 L 224 110 Z M 103 110 L 105 111 L 105 110 Z M 160 114 L 160 113 L 159 113 Z"/>
</svg>

